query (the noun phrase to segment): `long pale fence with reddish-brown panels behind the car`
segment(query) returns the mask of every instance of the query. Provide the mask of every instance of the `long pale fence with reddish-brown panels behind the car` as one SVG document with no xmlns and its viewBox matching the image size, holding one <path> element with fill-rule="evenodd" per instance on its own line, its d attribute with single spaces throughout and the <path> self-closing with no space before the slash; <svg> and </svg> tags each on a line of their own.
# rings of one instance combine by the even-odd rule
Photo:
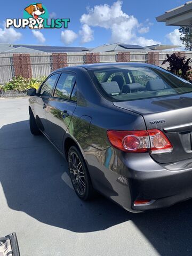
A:
<svg viewBox="0 0 192 256">
<path fill-rule="evenodd" d="M 162 65 L 167 53 L 172 54 L 173 52 L 0 54 L 0 84 L 5 84 L 13 76 L 17 75 L 23 75 L 25 77 L 47 76 L 51 71 L 60 67 L 95 62 L 151 63 L 167 68 L 169 63 Z M 191 52 L 177 52 L 177 54 L 192 58 Z"/>
</svg>

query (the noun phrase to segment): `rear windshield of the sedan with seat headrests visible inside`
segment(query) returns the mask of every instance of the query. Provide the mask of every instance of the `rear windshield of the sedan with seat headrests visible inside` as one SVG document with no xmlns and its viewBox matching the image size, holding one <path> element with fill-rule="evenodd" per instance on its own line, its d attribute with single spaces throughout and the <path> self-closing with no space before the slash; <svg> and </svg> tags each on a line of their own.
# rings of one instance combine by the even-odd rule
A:
<svg viewBox="0 0 192 256">
<path fill-rule="evenodd" d="M 111 100 L 128 101 L 192 92 L 192 84 L 161 68 L 122 66 L 89 70 Z"/>
</svg>

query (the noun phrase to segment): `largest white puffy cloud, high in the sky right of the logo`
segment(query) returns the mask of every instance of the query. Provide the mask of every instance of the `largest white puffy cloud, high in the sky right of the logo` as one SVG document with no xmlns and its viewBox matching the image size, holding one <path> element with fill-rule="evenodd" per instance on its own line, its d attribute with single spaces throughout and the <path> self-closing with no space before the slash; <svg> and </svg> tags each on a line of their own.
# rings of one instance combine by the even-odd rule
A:
<svg viewBox="0 0 192 256">
<path fill-rule="evenodd" d="M 112 5 L 95 5 L 87 8 L 87 14 L 83 14 L 80 21 L 89 27 L 101 27 L 111 30 L 110 43 L 134 43 L 146 46 L 145 44 L 157 43 L 153 39 L 138 37 L 138 33 L 147 33 L 145 28 L 133 15 L 128 15 L 122 10 L 123 2 L 117 0 Z M 149 22 L 149 20 L 147 20 Z M 143 27 L 143 28 L 142 28 Z M 144 29 L 145 28 L 145 29 Z M 140 32 L 139 32 L 140 31 Z M 159 42 L 158 42 L 159 43 Z"/>
</svg>

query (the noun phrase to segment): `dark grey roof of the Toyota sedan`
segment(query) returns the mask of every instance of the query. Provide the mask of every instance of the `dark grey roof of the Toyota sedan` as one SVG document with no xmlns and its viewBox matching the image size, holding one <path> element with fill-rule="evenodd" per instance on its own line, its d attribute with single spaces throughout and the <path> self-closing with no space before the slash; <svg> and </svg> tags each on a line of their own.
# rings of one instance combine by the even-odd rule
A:
<svg viewBox="0 0 192 256">
<path fill-rule="evenodd" d="M 156 67 L 158 66 L 151 65 L 148 63 L 135 63 L 135 62 L 110 62 L 110 63 L 93 63 L 93 64 L 84 64 L 84 65 L 78 65 L 78 66 L 71 66 L 66 68 L 60 68 L 57 70 L 54 70 L 54 72 L 57 71 L 75 71 L 77 69 L 86 69 L 86 70 L 94 70 L 94 69 L 100 69 L 100 68 L 118 68 L 123 66 L 134 66 L 134 67 Z"/>
</svg>

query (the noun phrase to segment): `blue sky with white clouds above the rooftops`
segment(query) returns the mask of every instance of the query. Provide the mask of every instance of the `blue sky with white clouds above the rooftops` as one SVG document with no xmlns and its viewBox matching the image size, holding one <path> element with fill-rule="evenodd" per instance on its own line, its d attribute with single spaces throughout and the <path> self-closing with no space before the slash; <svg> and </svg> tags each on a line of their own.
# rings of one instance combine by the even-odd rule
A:
<svg viewBox="0 0 192 256">
<path fill-rule="evenodd" d="M 44 0 L 50 18 L 70 18 L 68 29 L 5 28 L 7 18 L 23 18 L 30 1 L 3 1 L 0 43 L 95 47 L 110 43 L 181 45 L 179 27 L 165 26 L 155 17 L 180 6 L 181 0 Z"/>
</svg>

